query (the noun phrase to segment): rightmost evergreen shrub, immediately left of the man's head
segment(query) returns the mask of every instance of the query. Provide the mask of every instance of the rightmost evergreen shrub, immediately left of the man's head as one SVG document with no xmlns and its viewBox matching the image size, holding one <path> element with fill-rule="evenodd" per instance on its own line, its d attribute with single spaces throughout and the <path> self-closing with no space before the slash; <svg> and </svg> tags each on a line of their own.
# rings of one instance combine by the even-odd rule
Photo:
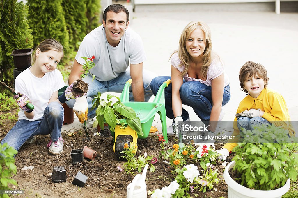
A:
<svg viewBox="0 0 298 198">
<path fill-rule="evenodd" d="M 93 29 L 97 28 L 101 25 L 102 21 L 99 21 L 100 19 L 100 0 L 85 0 L 86 7 L 87 7 L 87 18 L 88 18 L 88 24 L 87 24 L 87 32 L 91 32 Z"/>
</svg>

